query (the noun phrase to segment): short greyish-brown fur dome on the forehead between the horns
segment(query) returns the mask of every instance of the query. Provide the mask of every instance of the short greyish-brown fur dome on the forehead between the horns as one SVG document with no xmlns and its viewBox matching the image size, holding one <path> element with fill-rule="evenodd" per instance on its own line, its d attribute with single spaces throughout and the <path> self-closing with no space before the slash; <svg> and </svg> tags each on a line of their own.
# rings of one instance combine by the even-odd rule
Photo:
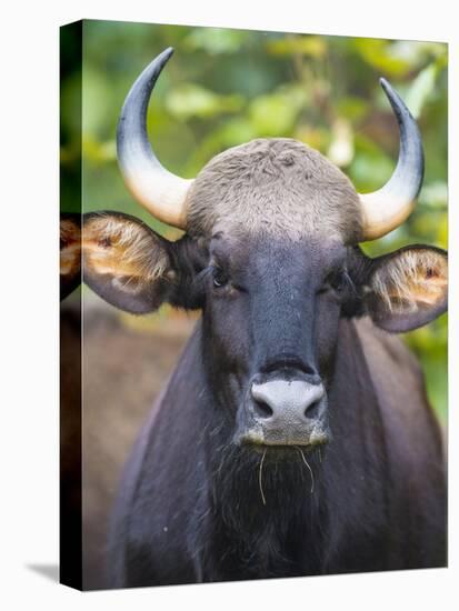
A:
<svg viewBox="0 0 459 611">
<path fill-rule="evenodd" d="M 318 151 L 288 138 L 252 140 L 218 154 L 198 174 L 188 201 L 192 236 L 323 234 L 356 243 L 361 224 L 349 179 Z"/>
</svg>

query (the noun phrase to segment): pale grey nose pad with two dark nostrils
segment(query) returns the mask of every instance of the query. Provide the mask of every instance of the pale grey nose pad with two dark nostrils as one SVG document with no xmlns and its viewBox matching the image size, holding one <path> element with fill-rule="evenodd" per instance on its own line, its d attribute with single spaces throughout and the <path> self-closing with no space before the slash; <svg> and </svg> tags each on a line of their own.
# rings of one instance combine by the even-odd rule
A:
<svg viewBox="0 0 459 611">
<path fill-rule="evenodd" d="M 271 380 L 262 384 L 252 384 L 252 397 L 256 401 L 266 403 L 272 410 L 272 418 L 305 418 L 310 405 L 319 401 L 323 394 L 323 384 L 309 384 L 302 380 Z"/>
</svg>

